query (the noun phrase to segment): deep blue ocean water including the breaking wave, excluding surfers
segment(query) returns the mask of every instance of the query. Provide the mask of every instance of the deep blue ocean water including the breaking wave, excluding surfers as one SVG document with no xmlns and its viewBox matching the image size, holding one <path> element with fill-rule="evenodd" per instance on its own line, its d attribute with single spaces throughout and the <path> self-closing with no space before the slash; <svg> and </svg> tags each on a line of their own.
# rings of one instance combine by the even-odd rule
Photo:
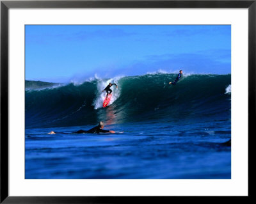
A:
<svg viewBox="0 0 256 204">
<path fill-rule="evenodd" d="M 230 179 L 231 75 L 190 74 L 168 84 L 176 76 L 26 88 L 25 178 Z M 118 88 L 103 108 L 109 82 Z M 116 134 L 72 133 L 99 121 Z"/>
</svg>

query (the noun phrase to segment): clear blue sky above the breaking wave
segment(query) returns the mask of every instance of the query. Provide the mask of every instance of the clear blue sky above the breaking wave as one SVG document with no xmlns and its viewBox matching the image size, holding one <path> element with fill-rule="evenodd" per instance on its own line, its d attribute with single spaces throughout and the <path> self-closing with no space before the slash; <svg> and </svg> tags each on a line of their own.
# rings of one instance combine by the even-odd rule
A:
<svg viewBox="0 0 256 204">
<path fill-rule="evenodd" d="M 26 26 L 26 80 L 231 73 L 231 26 Z"/>
</svg>

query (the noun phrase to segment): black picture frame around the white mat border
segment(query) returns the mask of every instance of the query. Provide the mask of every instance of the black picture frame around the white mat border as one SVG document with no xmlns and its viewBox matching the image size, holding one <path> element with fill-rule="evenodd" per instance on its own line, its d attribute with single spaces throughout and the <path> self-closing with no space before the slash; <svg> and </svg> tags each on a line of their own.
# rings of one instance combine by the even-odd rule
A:
<svg viewBox="0 0 256 204">
<path fill-rule="evenodd" d="M 9 196 L 8 194 L 8 12 L 10 8 L 248 8 L 248 139 L 255 136 L 256 111 L 255 111 L 255 70 L 256 70 L 256 0 L 253 1 L 1 1 L 1 203 L 131 203 L 153 201 L 161 203 L 161 199 L 171 201 L 181 199 L 193 202 L 209 196 Z M 241 70 L 243 72 L 243 70 Z M 244 76 L 243 76 L 244 77 Z M 252 142 L 248 143 L 248 158 Z M 250 163 L 248 162 L 250 169 Z M 249 172 L 248 172 L 249 173 Z M 248 184 L 250 184 L 249 174 Z M 251 181 L 252 182 L 252 181 Z M 252 188 L 248 186 L 249 199 Z M 218 198 L 211 197 L 214 201 Z M 221 200 L 231 197 L 222 196 Z M 234 197 L 232 197 L 234 198 Z M 159 200 L 160 199 L 160 200 Z M 237 197 L 235 198 L 237 200 Z"/>
</svg>

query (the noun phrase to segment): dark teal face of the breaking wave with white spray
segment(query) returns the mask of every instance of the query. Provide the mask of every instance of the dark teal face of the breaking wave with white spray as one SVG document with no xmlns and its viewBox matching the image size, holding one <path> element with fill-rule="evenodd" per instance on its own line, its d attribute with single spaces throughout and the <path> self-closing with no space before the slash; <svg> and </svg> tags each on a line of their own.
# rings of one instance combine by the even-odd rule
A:
<svg viewBox="0 0 256 204">
<path fill-rule="evenodd" d="M 130 122 L 227 120 L 231 113 L 231 75 L 146 74 L 92 79 L 44 90 L 26 90 L 26 128 L 107 125 Z M 115 82 L 111 102 L 102 103 L 108 82 Z M 227 91 L 228 88 L 228 91 Z M 228 94 L 226 94 L 228 92 Z"/>
</svg>

